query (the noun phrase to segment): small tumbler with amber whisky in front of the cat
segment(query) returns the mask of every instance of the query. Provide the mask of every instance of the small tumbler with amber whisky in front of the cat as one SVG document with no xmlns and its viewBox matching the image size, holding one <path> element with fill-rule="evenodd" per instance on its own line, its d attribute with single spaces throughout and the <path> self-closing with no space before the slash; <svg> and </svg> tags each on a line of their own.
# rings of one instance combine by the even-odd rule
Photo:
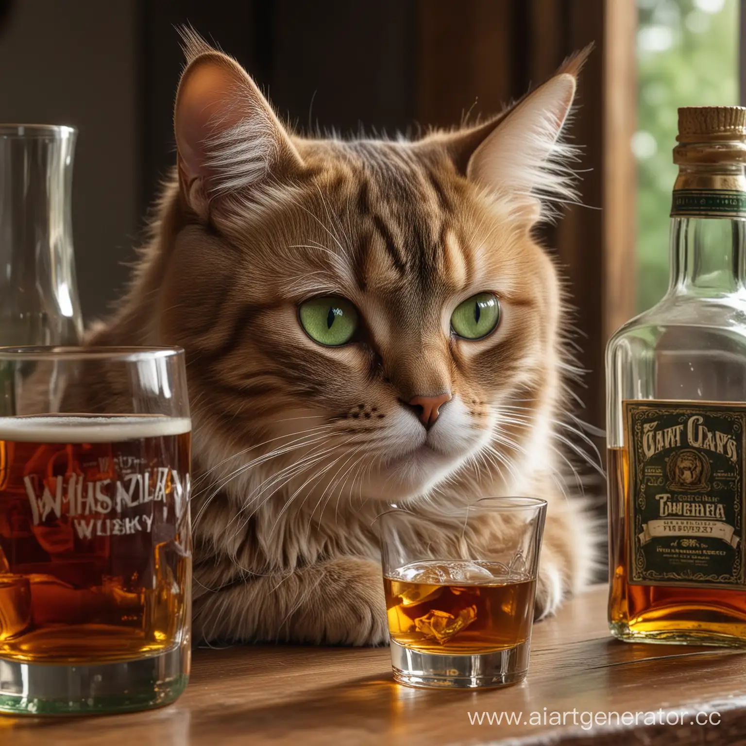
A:
<svg viewBox="0 0 746 746">
<path fill-rule="evenodd" d="M 467 689 L 524 680 L 546 507 L 482 498 L 448 515 L 380 515 L 395 680 Z"/>
</svg>

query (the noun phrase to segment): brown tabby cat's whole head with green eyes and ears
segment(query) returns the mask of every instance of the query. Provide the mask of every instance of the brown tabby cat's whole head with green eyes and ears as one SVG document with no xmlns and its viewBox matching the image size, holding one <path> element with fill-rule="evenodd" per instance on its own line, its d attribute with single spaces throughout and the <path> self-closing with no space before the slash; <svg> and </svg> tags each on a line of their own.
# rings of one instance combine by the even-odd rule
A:
<svg viewBox="0 0 746 746">
<path fill-rule="evenodd" d="M 251 501 L 545 466 L 562 309 L 532 230 L 572 196 L 558 138 L 583 57 L 489 122 L 405 142 L 296 137 L 231 58 L 187 54 L 161 325 L 204 466 L 251 463 Z"/>
</svg>

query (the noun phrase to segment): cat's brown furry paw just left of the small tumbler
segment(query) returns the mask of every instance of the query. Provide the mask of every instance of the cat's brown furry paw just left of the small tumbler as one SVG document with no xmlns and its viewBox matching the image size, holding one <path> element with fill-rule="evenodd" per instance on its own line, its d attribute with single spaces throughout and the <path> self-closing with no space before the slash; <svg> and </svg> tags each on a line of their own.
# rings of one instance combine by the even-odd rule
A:
<svg viewBox="0 0 746 746">
<path fill-rule="evenodd" d="M 322 565 L 316 596 L 292 623 L 292 637 L 317 645 L 385 645 L 389 641 L 380 565 L 341 557 Z"/>
</svg>

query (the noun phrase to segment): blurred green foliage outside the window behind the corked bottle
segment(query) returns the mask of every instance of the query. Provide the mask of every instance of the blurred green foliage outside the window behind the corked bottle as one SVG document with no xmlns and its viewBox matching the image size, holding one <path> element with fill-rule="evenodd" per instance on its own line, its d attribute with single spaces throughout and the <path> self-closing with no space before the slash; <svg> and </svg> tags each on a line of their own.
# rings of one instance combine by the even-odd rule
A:
<svg viewBox="0 0 746 746">
<path fill-rule="evenodd" d="M 677 107 L 739 103 L 739 1 L 637 0 L 637 307 L 668 286 Z"/>
</svg>

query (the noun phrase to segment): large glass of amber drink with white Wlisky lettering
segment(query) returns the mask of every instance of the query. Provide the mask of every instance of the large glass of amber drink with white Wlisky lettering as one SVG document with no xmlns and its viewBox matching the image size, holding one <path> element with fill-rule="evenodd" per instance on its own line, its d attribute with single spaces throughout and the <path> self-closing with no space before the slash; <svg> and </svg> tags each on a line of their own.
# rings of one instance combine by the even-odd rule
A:
<svg viewBox="0 0 746 746">
<path fill-rule="evenodd" d="M 184 691 L 190 439 L 180 348 L 0 348 L 0 712 Z"/>
</svg>

